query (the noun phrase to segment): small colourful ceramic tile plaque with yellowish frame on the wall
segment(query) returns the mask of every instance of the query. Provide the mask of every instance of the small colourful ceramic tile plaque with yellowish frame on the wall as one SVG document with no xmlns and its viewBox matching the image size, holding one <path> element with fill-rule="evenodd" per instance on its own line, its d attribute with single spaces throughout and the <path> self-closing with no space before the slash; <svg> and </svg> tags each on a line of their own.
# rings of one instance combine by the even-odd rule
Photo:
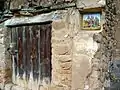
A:
<svg viewBox="0 0 120 90">
<path fill-rule="evenodd" d="M 83 14 L 82 29 L 100 30 L 101 29 L 101 14 L 100 13 Z"/>
</svg>

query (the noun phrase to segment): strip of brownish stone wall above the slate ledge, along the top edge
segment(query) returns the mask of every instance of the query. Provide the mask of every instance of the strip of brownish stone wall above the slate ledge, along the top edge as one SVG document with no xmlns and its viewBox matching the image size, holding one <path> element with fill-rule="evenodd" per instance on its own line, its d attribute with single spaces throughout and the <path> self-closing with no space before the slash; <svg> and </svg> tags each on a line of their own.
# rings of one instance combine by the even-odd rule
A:
<svg viewBox="0 0 120 90">
<path fill-rule="evenodd" d="M 73 0 L 11 0 L 10 9 L 27 8 L 39 5 L 44 7 L 66 2 L 73 2 Z"/>
</svg>

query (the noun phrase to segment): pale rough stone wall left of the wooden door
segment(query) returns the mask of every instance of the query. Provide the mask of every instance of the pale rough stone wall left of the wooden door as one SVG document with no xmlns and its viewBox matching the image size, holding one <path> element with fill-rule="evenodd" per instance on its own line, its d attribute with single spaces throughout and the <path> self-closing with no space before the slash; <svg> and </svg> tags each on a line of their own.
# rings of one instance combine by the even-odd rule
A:
<svg viewBox="0 0 120 90">
<path fill-rule="evenodd" d="M 11 60 L 7 52 L 10 42 L 9 34 L 9 30 L 0 29 L 0 88 L 11 81 Z"/>
</svg>

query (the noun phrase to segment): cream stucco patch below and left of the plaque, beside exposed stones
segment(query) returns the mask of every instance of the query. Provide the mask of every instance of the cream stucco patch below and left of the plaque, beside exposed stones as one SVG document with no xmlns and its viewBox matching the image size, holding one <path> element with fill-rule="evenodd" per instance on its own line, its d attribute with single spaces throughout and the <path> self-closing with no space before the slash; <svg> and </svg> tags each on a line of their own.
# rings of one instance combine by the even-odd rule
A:
<svg viewBox="0 0 120 90">
<path fill-rule="evenodd" d="M 95 58 L 99 44 L 94 40 L 101 38 L 99 31 L 81 29 L 81 18 L 77 10 L 70 15 L 70 28 L 72 31 L 72 90 L 96 90 L 99 88 L 99 59 Z M 78 19 L 80 18 L 80 19 Z"/>
</svg>

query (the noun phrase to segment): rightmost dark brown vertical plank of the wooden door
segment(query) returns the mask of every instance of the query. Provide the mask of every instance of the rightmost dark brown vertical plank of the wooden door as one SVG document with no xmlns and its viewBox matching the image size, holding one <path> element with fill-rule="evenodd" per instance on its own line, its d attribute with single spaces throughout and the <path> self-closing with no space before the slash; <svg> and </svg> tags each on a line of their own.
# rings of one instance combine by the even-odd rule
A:
<svg viewBox="0 0 120 90">
<path fill-rule="evenodd" d="M 45 59 L 44 59 L 44 71 L 45 71 L 45 77 L 46 82 L 48 83 L 50 81 L 50 75 L 51 75 L 51 31 L 50 31 L 50 24 L 45 25 Z"/>
</svg>

